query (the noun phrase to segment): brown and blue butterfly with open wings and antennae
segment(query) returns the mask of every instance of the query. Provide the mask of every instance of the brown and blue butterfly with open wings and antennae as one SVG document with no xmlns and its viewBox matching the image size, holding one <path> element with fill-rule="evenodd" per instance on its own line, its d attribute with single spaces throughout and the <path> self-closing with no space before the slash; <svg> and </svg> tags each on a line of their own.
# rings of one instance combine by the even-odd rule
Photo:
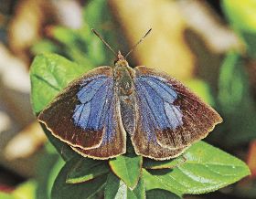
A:
<svg viewBox="0 0 256 199">
<path fill-rule="evenodd" d="M 100 160 L 125 153 L 127 139 L 137 155 L 175 158 L 222 121 L 181 82 L 131 68 L 126 57 L 119 51 L 113 68 L 92 69 L 69 83 L 37 119 L 75 152 Z"/>
</svg>

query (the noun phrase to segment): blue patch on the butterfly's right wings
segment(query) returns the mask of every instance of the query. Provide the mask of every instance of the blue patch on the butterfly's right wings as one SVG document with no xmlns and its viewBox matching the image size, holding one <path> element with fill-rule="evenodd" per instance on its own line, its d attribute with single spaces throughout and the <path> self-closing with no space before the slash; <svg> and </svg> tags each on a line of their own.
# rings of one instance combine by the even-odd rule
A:
<svg viewBox="0 0 256 199">
<path fill-rule="evenodd" d="M 140 76 L 135 79 L 134 84 L 138 103 L 143 111 L 139 114 L 143 115 L 144 131 L 148 139 L 156 141 L 156 131 L 158 133 L 164 133 L 165 130 L 175 131 L 183 125 L 182 111 L 179 106 L 174 105 L 177 98 L 174 89 L 155 77 Z M 176 148 L 177 141 L 182 141 L 181 136 L 170 133 L 168 138 L 173 142 L 173 148 Z"/>
</svg>

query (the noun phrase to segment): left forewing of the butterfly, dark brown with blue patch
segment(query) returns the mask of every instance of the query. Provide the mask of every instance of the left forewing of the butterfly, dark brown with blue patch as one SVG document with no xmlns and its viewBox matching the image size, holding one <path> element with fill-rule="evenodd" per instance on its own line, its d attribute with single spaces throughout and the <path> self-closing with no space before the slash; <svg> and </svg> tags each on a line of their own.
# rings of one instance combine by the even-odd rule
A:
<svg viewBox="0 0 256 199">
<path fill-rule="evenodd" d="M 38 115 L 38 120 L 54 136 L 73 147 L 97 148 L 104 136 L 110 136 L 106 131 L 110 131 L 107 120 L 112 117 L 108 111 L 113 96 L 112 68 L 96 68 L 71 82 Z M 121 133 L 121 137 L 125 135 L 123 131 L 116 133 Z M 125 147 L 123 142 L 120 142 L 120 147 Z"/>
</svg>

